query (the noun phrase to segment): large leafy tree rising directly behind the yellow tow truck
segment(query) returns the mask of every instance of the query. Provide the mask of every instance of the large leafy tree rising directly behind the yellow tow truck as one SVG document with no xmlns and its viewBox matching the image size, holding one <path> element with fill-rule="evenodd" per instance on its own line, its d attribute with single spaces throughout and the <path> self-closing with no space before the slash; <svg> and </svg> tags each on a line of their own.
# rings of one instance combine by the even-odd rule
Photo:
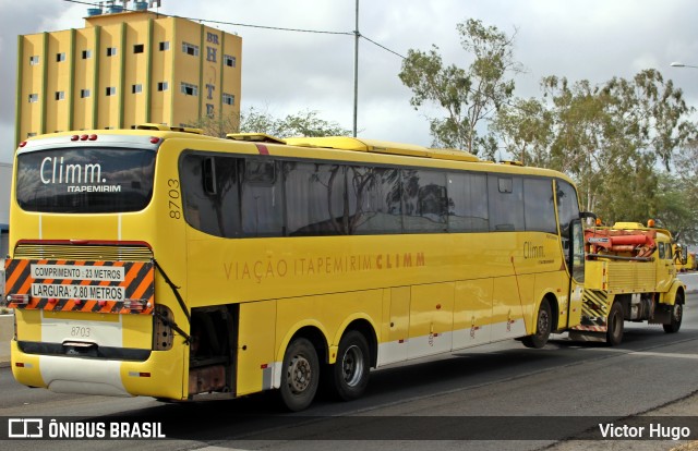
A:
<svg viewBox="0 0 698 451">
<path fill-rule="evenodd" d="M 577 180 L 585 207 L 617 220 L 650 214 L 658 164 L 669 169 L 695 133 L 681 89 L 655 70 L 598 86 L 549 76 L 543 87 L 554 117 L 550 166 Z"/>
</svg>

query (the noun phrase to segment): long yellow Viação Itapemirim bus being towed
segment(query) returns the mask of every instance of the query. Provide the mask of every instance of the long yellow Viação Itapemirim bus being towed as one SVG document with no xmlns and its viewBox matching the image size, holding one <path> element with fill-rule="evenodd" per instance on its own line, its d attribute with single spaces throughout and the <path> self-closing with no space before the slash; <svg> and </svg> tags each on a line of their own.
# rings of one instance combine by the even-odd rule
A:
<svg viewBox="0 0 698 451">
<path fill-rule="evenodd" d="M 321 379 L 352 400 L 371 368 L 541 348 L 579 324 L 583 214 L 562 173 L 192 132 L 21 144 L 5 264 L 17 381 L 163 400 L 276 389 L 299 411 Z"/>
</svg>

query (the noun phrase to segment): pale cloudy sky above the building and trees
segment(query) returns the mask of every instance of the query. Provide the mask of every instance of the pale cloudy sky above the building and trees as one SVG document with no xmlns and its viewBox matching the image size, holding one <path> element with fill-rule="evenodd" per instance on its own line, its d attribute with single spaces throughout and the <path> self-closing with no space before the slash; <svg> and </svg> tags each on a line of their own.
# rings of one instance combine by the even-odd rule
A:
<svg viewBox="0 0 698 451">
<path fill-rule="evenodd" d="M 243 111 L 277 119 L 316 111 L 351 131 L 357 4 L 358 31 L 368 38 L 358 46 L 359 137 L 431 145 L 428 117 L 438 109 L 410 106 L 400 56 L 434 45 L 445 63 L 467 68 L 472 59 L 456 25 L 468 19 L 515 36 L 514 57 L 525 69 L 514 78 L 516 97 L 542 97 L 540 81 L 549 75 L 595 85 L 657 69 L 698 107 L 698 68 L 670 66 L 698 66 L 695 0 L 161 0 L 159 12 L 230 23 L 204 22 L 242 37 Z M 0 162 L 14 151 L 17 36 L 82 28 L 87 8 L 0 0 Z"/>
</svg>

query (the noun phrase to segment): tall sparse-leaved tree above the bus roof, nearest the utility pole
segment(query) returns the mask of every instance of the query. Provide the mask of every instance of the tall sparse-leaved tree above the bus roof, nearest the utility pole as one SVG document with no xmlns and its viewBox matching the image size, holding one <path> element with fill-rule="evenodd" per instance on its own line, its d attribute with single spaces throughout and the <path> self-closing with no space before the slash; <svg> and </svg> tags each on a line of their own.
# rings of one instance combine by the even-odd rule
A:
<svg viewBox="0 0 698 451">
<path fill-rule="evenodd" d="M 432 46 L 429 52 L 408 50 L 399 77 L 412 89 L 414 109 L 433 102 L 445 110 L 445 117 L 430 119 L 435 147 L 491 153 L 492 141 L 478 135 L 478 125 L 512 97 L 514 81 L 507 73 L 522 70 L 514 61 L 514 38 L 495 26 L 470 19 L 457 29 L 462 48 L 474 57 L 467 70 L 444 65 L 438 47 Z"/>
</svg>

